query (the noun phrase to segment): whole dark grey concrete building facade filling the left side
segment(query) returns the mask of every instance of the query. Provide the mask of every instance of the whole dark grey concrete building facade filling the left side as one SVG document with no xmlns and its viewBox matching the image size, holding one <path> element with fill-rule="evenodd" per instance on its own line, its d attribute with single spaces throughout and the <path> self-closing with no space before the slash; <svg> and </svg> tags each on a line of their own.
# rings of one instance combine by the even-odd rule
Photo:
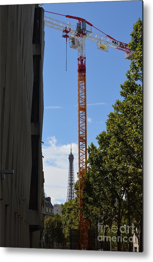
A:
<svg viewBox="0 0 153 262">
<path fill-rule="evenodd" d="M 1 5 L 0 15 L 0 245 L 41 248 L 44 10 Z"/>
</svg>

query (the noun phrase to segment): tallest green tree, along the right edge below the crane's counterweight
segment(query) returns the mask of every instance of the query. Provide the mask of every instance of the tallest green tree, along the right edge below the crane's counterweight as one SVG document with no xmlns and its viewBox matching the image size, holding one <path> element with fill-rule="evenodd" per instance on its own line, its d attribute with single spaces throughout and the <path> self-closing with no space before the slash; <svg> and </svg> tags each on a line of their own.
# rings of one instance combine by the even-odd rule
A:
<svg viewBox="0 0 153 262">
<path fill-rule="evenodd" d="M 133 216 L 140 232 L 139 251 L 142 251 L 142 21 L 133 26 L 129 47 L 134 51 L 127 80 L 121 85 L 123 101 L 117 100 L 114 112 L 107 121 L 114 149 L 110 164 L 116 166 L 117 179 L 126 190 Z M 116 147 L 115 147 L 116 144 Z M 139 222 L 138 222 L 139 221 Z"/>
</svg>

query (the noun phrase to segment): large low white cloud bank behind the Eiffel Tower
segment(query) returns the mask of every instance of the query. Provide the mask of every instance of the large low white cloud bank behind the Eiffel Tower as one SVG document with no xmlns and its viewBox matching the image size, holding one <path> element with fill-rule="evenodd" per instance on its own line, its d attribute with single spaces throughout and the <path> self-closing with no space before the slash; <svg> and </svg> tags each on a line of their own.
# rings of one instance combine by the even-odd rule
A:
<svg viewBox="0 0 153 262">
<path fill-rule="evenodd" d="M 71 152 L 71 145 L 58 144 L 55 136 L 49 137 L 47 143 L 48 146 L 42 146 L 45 193 L 51 197 L 52 204 L 64 203 L 68 189 L 68 155 Z M 72 154 L 76 181 L 78 172 L 78 145 L 76 143 L 72 143 Z"/>
</svg>

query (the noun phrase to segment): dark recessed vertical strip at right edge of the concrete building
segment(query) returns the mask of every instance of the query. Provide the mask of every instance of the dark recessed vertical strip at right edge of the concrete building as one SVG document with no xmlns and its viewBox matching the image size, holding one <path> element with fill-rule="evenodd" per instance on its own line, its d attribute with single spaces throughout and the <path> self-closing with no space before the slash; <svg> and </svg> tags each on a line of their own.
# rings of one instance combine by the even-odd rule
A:
<svg viewBox="0 0 153 262">
<path fill-rule="evenodd" d="M 37 21 L 35 23 L 35 21 Z M 35 27 L 36 24 L 36 27 Z M 38 25 L 38 27 L 37 27 Z M 38 30 L 37 30 L 38 29 Z M 30 243 L 31 247 L 36 247 L 37 231 L 39 235 L 41 234 L 43 238 L 44 229 L 44 217 L 43 217 L 43 206 L 42 199 L 44 198 L 44 193 L 42 192 L 42 187 L 44 183 L 43 166 L 42 166 L 42 123 L 43 123 L 43 58 L 44 58 L 44 10 L 43 8 L 35 8 L 34 15 L 34 32 L 39 32 L 33 34 L 33 69 L 34 69 L 34 82 L 33 82 L 33 104 L 37 105 L 37 111 L 32 110 L 31 115 L 31 135 L 32 135 L 32 155 L 37 157 L 32 157 L 32 164 L 34 164 L 34 169 L 32 169 L 32 179 L 30 189 L 30 202 L 29 207 L 34 209 L 33 212 L 29 213 L 29 227 L 31 234 Z M 35 58 L 37 58 L 35 60 Z M 33 144 L 34 142 L 34 144 Z M 37 149 L 38 148 L 38 152 Z M 37 188 L 36 188 L 37 184 Z M 35 193 L 35 202 L 33 195 L 33 187 L 37 191 Z M 37 203 L 37 205 L 36 205 Z M 40 237 L 39 237 L 40 238 Z M 35 244 L 33 244 L 35 243 Z"/>
</svg>

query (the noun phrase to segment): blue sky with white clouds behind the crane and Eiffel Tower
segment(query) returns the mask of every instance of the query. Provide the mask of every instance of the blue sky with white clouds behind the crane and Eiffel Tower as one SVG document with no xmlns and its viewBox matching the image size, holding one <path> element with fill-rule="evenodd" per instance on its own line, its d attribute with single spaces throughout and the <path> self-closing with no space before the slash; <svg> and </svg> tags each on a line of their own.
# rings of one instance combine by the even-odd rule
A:
<svg viewBox="0 0 153 262">
<path fill-rule="evenodd" d="M 133 24 L 142 19 L 142 1 L 109 1 L 44 4 L 45 11 L 85 18 L 118 41 L 129 43 Z M 46 16 L 68 22 L 68 18 L 45 12 Z M 70 19 L 72 25 L 77 20 Z M 92 28 L 93 32 L 98 32 Z M 102 33 L 100 33 L 102 34 Z M 120 97 L 129 60 L 114 48 L 97 49 L 86 40 L 87 144 L 98 146 L 96 136 L 106 130 L 107 115 Z M 44 119 L 42 147 L 45 192 L 52 202 L 64 203 L 68 183 L 70 144 L 74 154 L 75 180 L 78 171 L 77 50 L 68 46 L 62 32 L 45 26 L 43 67 Z"/>
</svg>

